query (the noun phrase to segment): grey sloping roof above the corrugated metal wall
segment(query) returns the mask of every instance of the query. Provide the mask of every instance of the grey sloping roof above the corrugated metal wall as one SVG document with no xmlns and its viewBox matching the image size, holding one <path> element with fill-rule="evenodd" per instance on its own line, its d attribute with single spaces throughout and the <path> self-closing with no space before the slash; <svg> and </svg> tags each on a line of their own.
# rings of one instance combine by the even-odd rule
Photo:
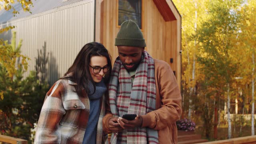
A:
<svg viewBox="0 0 256 144">
<path fill-rule="evenodd" d="M 14 8 L 20 12 L 20 14 L 17 14 L 16 16 L 13 16 L 12 11 L 6 11 L 6 10 L 0 10 L 0 24 L 1 23 L 5 23 L 8 22 L 10 20 L 16 20 L 19 18 L 24 18 L 26 16 L 31 16 L 34 14 L 38 14 L 41 12 L 45 12 L 48 10 L 52 10 L 54 8 L 58 8 L 61 6 L 66 6 L 69 4 L 73 4 L 76 2 L 80 2 L 83 0 L 32 0 L 33 2 L 33 6 L 31 7 L 31 12 L 32 14 L 30 14 L 29 12 L 24 12 L 21 4 L 20 3 L 16 3 L 14 4 Z"/>
</svg>

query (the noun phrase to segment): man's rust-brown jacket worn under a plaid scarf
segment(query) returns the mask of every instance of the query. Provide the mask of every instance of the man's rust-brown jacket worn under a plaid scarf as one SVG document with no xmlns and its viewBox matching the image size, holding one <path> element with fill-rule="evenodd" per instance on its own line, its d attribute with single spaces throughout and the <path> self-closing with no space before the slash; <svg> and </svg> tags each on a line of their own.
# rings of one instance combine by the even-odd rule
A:
<svg viewBox="0 0 256 144">
<path fill-rule="evenodd" d="M 142 127 L 158 130 L 159 144 L 177 144 L 178 120 L 182 114 L 181 95 L 176 78 L 169 64 L 154 59 L 156 78 L 156 110 L 142 116 Z M 109 102 L 107 102 L 109 104 Z M 108 107 L 108 108 L 107 108 Z M 110 110 L 109 106 L 106 109 Z M 111 112 L 103 118 L 103 130 L 110 133 L 108 120 Z"/>
</svg>

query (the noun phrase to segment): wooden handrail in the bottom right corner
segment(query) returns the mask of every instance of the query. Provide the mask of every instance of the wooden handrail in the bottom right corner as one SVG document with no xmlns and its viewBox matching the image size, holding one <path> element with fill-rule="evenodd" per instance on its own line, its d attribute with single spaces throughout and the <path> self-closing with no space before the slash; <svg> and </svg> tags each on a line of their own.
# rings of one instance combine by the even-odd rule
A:
<svg viewBox="0 0 256 144">
<path fill-rule="evenodd" d="M 230 138 L 228 140 L 217 140 L 213 142 L 204 142 L 200 144 L 256 144 L 255 136 L 245 136 L 240 138 Z"/>
</svg>

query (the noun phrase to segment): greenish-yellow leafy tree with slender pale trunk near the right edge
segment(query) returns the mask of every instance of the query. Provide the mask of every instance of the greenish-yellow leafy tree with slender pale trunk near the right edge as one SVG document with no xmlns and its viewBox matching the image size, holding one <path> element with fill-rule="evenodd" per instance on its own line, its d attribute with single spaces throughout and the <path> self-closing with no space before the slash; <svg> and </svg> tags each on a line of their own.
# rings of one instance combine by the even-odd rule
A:
<svg viewBox="0 0 256 144">
<path fill-rule="evenodd" d="M 226 91 L 228 105 L 228 138 L 231 138 L 230 120 L 230 84 L 234 81 L 237 68 L 232 55 L 236 51 L 236 39 L 238 33 L 237 22 L 238 7 L 242 1 L 211 1 L 208 4 L 209 19 L 205 21 L 198 32 L 198 40 L 203 53 L 200 62 L 204 64 L 206 75 L 211 74 L 214 82 L 222 84 Z"/>
</svg>

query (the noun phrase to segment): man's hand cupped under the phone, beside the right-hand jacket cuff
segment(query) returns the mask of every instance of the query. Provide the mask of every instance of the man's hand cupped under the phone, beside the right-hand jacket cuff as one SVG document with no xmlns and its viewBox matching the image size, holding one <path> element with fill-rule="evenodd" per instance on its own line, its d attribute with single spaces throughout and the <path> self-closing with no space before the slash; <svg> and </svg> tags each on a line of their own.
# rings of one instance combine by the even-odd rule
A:
<svg viewBox="0 0 256 144">
<path fill-rule="evenodd" d="M 134 120 L 126 120 L 119 117 L 118 122 L 120 123 L 120 126 L 124 129 L 133 129 L 142 125 L 142 117 L 138 114 Z"/>
</svg>

